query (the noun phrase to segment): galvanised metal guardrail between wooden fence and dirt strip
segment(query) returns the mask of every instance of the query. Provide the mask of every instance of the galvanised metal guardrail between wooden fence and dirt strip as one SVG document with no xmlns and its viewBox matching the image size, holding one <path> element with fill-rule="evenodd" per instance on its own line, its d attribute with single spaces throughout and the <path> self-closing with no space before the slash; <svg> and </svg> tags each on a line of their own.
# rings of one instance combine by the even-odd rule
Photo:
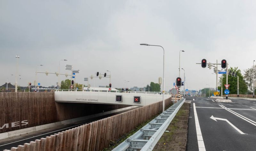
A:
<svg viewBox="0 0 256 151">
<path fill-rule="evenodd" d="M 186 99 L 180 99 L 177 103 L 165 110 L 164 113 L 157 116 L 112 151 L 153 150 L 185 100 Z"/>
</svg>

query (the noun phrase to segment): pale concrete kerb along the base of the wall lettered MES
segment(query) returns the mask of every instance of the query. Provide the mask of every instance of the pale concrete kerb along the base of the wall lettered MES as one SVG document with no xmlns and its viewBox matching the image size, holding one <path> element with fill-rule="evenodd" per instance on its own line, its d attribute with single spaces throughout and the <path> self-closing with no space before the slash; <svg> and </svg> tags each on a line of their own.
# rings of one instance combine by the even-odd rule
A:
<svg viewBox="0 0 256 151">
<path fill-rule="evenodd" d="M 102 116 L 102 115 L 107 115 L 107 114 L 112 114 L 112 113 L 115 113 L 115 112 L 120 112 L 120 111 L 132 109 L 132 108 L 137 108 L 137 107 L 138 106 L 124 107 L 124 108 L 119 108 L 119 109 L 116 109 L 116 110 L 107 111 L 107 112 L 103 112 L 103 113 L 98 113 L 98 114 L 94 114 L 94 115 L 87 115 L 87 116 L 77 117 L 77 118 L 64 120 L 64 121 L 59 121 L 59 122 L 55 122 L 55 123 L 49 123 L 49 124 L 29 127 L 29 128 L 20 129 L 20 130 L 4 132 L 4 133 L 0 133 L 0 140 L 8 139 L 8 138 L 12 138 L 12 137 L 15 137 L 15 136 L 28 134 L 28 133 L 32 133 L 32 132 L 35 132 L 35 131 L 45 130 L 45 129 L 52 128 L 52 127 L 55 127 L 55 126 L 75 123 L 75 122 L 83 121 L 85 119 L 90 119 L 90 118 L 94 118 L 94 117 Z"/>
</svg>

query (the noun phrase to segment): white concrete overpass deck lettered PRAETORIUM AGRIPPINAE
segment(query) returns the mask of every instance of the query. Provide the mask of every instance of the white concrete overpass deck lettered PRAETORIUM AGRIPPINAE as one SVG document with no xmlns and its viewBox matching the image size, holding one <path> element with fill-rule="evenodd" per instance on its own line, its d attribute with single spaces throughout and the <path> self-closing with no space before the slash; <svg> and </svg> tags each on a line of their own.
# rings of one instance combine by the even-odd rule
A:
<svg viewBox="0 0 256 151">
<path fill-rule="evenodd" d="M 165 93 L 165 99 L 171 97 Z M 56 91 L 56 102 L 146 106 L 163 100 L 163 93 L 139 91 Z"/>
</svg>

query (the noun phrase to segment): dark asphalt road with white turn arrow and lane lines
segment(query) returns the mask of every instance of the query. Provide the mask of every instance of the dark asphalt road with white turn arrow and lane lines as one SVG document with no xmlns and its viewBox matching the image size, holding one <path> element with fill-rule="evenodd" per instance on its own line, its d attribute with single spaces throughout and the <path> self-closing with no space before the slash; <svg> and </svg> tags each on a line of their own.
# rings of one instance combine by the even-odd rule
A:
<svg viewBox="0 0 256 151">
<path fill-rule="evenodd" d="M 186 97 L 191 101 L 187 151 L 256 150 L 256 100 L 231 100 Z"/>
</svg>

